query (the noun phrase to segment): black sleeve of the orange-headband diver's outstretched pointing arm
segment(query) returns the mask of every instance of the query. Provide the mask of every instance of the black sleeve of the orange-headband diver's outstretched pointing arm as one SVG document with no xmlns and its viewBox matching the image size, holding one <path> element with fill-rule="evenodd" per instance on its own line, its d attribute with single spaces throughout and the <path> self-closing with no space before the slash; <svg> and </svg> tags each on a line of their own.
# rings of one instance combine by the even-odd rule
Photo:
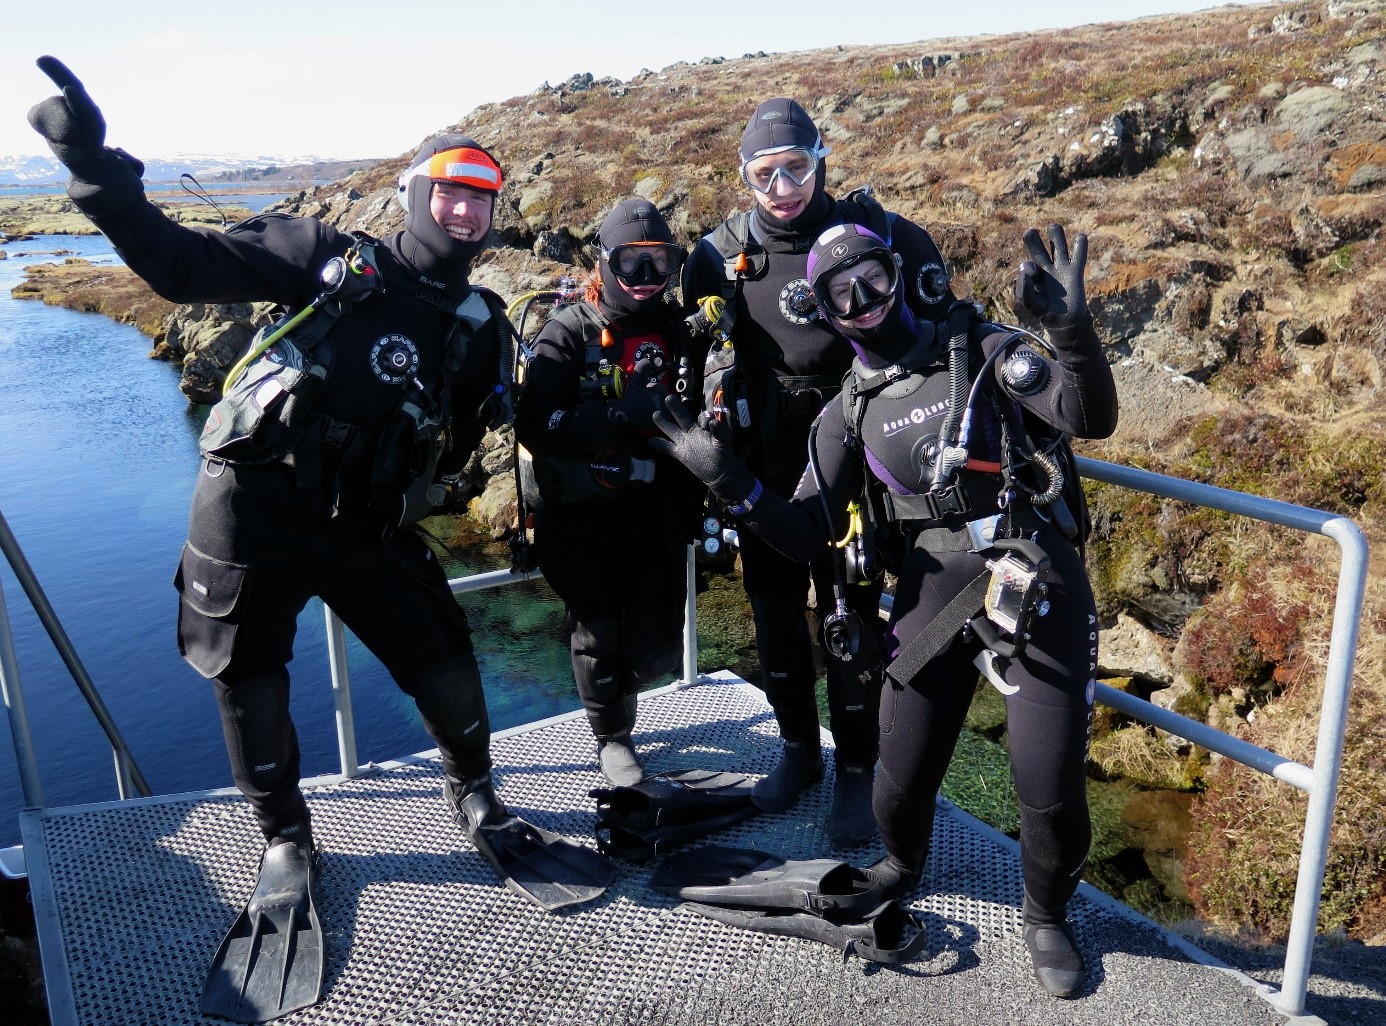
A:
<svg viewBox="0 0 1386 1026">
<path fill-rule="evenodd" d="M 172 220 L 143 190 L 97 183 L 73 197 L 121 259 L 172 302 L 298 306 L 317 291 L 322 265 L 346 248 L 315 218 L 259 215 L 226 232 Z"/>
</svg>

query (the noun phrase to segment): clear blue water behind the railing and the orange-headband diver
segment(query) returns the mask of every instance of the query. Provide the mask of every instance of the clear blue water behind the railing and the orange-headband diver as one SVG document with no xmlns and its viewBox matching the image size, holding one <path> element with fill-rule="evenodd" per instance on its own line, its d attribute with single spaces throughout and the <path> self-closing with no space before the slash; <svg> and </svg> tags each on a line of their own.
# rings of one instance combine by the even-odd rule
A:
<svg viewBox="0 0 1386 1026">
<path fill-rule="evenodd" d="M 0 513 L 157 793 L 230 785 L 211 686 L 182 661 L 172 575 L 187 530 L 205 408 L 150 340 L 90 313 L 10 298 L 25 265 L 65 250 L 116 263 L 103 237 L 54 236 L 4 247 L 0 261 Z M 29 255 L 18 255 L 29 254 Z M 452 574 L 506 566 L 467 546 Z M 47 806 L 116 797 L 111 750 L 29 607 L 10 566 L 0 585 Z M 492 725 L 577 707 L 560 605 L 542 584 L 464 596 Z M 304 772 L 337 770 L 323 610 L 299 620 L 292 710 Z M 349 667 L 362 761 L 432 747 L 413 703 L 353 639 Z M 8 727 L 0 727 L 0 846 L 24 807 Z"/>
</svg>

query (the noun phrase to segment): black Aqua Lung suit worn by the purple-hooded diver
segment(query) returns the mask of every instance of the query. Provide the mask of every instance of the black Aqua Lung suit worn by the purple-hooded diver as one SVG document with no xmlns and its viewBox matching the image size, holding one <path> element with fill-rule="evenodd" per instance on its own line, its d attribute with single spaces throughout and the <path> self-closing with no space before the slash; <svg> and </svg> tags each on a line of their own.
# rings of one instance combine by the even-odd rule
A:
<svg viewBox="0 0 1386 1026">
<path fill-rule="evenodd" d="M 1091 318 L 1073 331 L 1052 333 L 1053 358 L 1010 329 L 976 319 L 962 304 L 951 320 L 916 324 L 905 315 L 887 323 L 883 334 L 858 342 L 862 355 L 844 381 L 843 399 L 823 410 L 816 433 L 833 524 L 825 523 L 812 474 L 804 476 L 791 503 L 761 502 L 742 523 L 786 556 L 807 560 L 822 553 L 830 531 L 834 538 L 845 532 L 848 503 L 865 496 L 865 530 L 875 523 L 876 541 L 894 549 L 900 581 L 887 649 L 902 657 L 888 666 L 880 700 L 873 806 L 887 850 L 915 871 L 929 853 L 933 796 L 976 688 L 974 660 L 984 650 L 977 634 L 963 629 L 981 610 L 981 595 L 949 603 L 979 580 L 985 584 L 987 560 L 1002 555 L 973 539 L 967 525 L 1002 513 L 998 537 L 1037 539 L 1049 560 L 1048 610 L 1035 616 L 1033 639 L 1019 653 L 984 660 L 1006 696 L 1026 892 L 1042 916 L 1062 921 L 1091 837 L 1084 771 L 1098 624 L 1077 534 L 1066 537 L 1071 528 L 1063 503 L 1046 507 L 1038 499 L 1051 498 L 1055 484 L 1045 470 L 1046 448 L 1060 453 L 1062 466 L 1062 434 L 1105 437 L 1113 430 L 1112 373 Z M 949 381 L 949 337 L 967 355 L 960 381 Z M 1030 373 L 1020 373 L 1026 369 Z M 1010 388 L 1001 384 L 1003 377 Z M 940 433 L 956 437 L 949 412 L 962 412 L 958 395 L 973 394 L 973 384 L 969 463 L 930 498 Z M 1024 455 L 1035 451 L 1038 462 Z M 1071 466 L 1063 471 L 1071 485 Z M 1077 505 L 1070 488 L 1067 507 Z M 1073 519 L 1081 520 L 1081 512 Z M 937 635 L 933 643 L 930 635 Z M 923 664 L 912 661 L 922 649 L 933 654 Z"/>
</svg>

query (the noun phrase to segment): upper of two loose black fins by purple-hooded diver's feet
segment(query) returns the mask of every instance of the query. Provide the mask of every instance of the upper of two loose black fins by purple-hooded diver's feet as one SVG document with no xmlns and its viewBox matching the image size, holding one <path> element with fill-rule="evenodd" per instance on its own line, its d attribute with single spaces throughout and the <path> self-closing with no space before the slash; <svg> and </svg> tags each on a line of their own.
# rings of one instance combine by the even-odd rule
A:
<svg viewBox="0 0 1386 1026">
<path fill-rule="evenodd" d="M 650 887 L 685 901 L 816 916 L 861 918 L 884 901 L 875 878 L 836 858 L 786 860 L 718 844 L 665 858 Z"/>
</svg>

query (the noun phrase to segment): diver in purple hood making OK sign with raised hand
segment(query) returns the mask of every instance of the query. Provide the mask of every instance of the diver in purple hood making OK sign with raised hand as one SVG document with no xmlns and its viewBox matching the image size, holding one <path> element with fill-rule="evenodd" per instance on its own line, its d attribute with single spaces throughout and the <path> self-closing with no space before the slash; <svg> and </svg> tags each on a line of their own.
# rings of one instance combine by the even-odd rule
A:
<svg viewBox="0 0 1386 1026">
<path fill-rule="evenodd" d="M 977 670 L 1005 695 L 1024 943 L 1040 984 L 1074 997 L 1085 975 L 1066 907 L 1091 842 L 1098 625 L 1067 437 L 1109 435 L 1117 399 L 1084 294 L 1087 237 L 1070 251 L 1055 225 L 1048 247 L 1035 230 L 1024 244 L 1016 301 L 1045 327 L 1046 344 L 981 320 L 965 302 L 944 320 L 919 319 L 881 238 L 855 225 L 819 236 L 808 280 L 855 359 L 815 426 L 809 473 L 791 499 L 678 405 L 654 419 L 672 441 L 653 445 L 786 557 L 819 559 L 852 524 L 858 566 L 883 563 L 898 575 L 873 792 L 887 855 L 869 869 L 887 897 L 913 890 L 924 869 L 934 794 Z M 845 654 L 862 625 L 839 606 L 832 627 Z"/>
</svg>

